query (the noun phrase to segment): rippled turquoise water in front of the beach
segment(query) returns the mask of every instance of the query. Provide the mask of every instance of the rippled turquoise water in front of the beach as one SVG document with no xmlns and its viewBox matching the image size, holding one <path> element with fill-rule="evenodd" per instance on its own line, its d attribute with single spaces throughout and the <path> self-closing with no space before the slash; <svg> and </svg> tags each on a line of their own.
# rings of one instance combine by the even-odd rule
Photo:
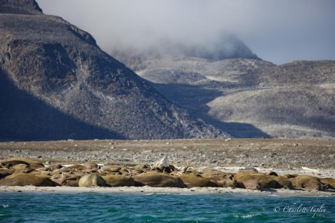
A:
<svg viewBox="0 0 335 223">
<path fill-rule="evenodd" d="M 335 197 L 1 192 L 0 222 L 335 222 Z"/>
</svg>

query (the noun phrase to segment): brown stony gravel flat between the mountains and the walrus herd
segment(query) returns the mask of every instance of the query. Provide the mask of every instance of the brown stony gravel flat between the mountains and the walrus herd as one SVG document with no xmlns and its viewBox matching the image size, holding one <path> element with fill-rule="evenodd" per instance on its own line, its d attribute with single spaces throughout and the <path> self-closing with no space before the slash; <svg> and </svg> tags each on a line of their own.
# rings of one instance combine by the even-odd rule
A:
<svg viewBox="0 0 335 223">
<path fill-rule="evenodd" d="M 150 164 L 168 155 L 191 167 L 335 168 L 334 140 L 190 139 L 0 142 L 0 160 L 25 157 L 51 163 Z"/>
</svg>

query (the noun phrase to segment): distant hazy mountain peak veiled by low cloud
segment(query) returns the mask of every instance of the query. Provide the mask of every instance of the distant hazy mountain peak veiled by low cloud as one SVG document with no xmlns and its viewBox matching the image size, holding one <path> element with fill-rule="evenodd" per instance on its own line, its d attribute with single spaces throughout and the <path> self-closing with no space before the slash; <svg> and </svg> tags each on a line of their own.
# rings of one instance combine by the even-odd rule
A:
<svg viewBox="0 0 335 223">
<path fill-rule="evenodd" d="M 116 46 L 110 55 L 128 67 L 137 70 L 145 61 L 162 61 L 166 58 L 202 58 L 221 61 L 229 58 L 261 60 L 237 36 L 222 34 L 201 41 L 178 41 L 169 38 L 154 41 L 150 46 Z"/>
</svg>

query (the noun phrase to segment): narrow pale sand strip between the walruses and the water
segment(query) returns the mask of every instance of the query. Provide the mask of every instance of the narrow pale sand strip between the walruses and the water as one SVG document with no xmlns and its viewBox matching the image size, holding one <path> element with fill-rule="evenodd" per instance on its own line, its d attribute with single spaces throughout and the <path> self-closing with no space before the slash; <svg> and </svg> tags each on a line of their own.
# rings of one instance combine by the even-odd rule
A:
<svg viewBox="0 0 335 223">
<path fill-rule="evenodd" d="M 0 186 L 4 192 L 36 192 L 36 193 L 113 193 L 113 194 L 175 194 L 175 195 L 210 195 L 210 194 L 244 194 L 244 195 L 275 195 L 293 197 L 335 197 L 335 190 L 304 190 L 304 189 L 262 189 L 247 190 L 232 187 L 34 187 L 34 186 Z"/>
</svg>

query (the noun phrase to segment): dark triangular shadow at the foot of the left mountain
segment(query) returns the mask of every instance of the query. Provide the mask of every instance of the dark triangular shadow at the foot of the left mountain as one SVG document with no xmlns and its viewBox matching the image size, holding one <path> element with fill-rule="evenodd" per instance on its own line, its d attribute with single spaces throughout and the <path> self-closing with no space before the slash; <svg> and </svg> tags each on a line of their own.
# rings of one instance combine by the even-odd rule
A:
<svg viewBox="0 0 335 223">
<path fill-rule="evenodd" d="M 124 139 L 88 125 L 19 90 L 0 70 L 0 141 Z"/>
</svg>

